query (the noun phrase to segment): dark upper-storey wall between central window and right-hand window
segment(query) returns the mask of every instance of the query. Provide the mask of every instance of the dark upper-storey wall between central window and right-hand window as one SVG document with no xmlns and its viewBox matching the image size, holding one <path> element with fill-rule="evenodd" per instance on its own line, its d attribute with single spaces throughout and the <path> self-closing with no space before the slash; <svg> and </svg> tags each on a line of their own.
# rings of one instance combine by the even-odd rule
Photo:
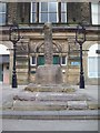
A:
<svg viewBox="0 0 100 133">
<path fill-rule="evenodd" d="M 68 23 L 78 23 L 84 21 L 90 23 L 89 2 L 68 2 Z"/>
</svg>

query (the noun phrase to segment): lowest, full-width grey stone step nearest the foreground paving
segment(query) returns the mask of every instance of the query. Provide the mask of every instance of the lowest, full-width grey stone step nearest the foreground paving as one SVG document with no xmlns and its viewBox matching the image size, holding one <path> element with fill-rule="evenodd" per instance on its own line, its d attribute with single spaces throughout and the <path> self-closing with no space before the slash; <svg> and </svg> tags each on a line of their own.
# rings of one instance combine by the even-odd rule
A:
<svg viewBox="0 0 100 133">
<path fill-rule="evenodd" d="M 23 120 L 99 120 L 98 110 L 68 110 L 68 111 L 2 111 L 2 119 Z"/>
</svg>

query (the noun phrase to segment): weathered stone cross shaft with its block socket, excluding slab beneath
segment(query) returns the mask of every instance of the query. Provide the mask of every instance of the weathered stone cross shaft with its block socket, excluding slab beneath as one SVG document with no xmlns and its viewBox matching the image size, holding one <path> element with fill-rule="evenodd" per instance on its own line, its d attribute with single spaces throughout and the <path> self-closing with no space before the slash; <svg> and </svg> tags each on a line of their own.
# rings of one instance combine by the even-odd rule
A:
<svg viewBox="0 0 100 133">
<path fill-rule="evenodd" d="M 52 24 L 44 23 L 44 65 L 39 65 L 36 72 L 36 84 L 61 84 L 62 71 L 53 62 Z"/>
</svg>

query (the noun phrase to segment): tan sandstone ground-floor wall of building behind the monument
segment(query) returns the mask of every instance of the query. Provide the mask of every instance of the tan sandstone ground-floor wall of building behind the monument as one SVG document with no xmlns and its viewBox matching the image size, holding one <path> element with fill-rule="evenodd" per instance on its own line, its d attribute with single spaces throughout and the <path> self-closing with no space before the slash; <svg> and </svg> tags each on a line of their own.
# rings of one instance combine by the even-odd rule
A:
<svg viewBox="0 0 100 133">
<path fill-rule="evenodd" d="M 40 33 L 38 32 L 28 32 L 26 31 L 24 33 L 21 33 L 22 35 L 26 34 L 27 39 L 21 39 L 17 43 L 17 76 L 18 76 L 18 83 L 23 84 L 23 83 L 29 83 L 34 81 L 34 73 L 31 73 L 31 71 L 36 71 L 37 66 L 31 66 L 30 65 L 30 57 L 36 54 L 37 57 L 40 53 L 36 53 L 36 49 L 38 45 L 41 45 L 43 43 L 43 38 Z M 31 34 L 31 39 L 30 39 Z M 60 34 L 62 34 L 60 37 Z M 92 40 L 90 39 L 90 35 L 92 35 Z M 6 34 L 4 34 L 6 37 Z M 74 33 L 59 33 L 54 32 L 53 33 L 53 43 L 56 43 L 59 48 L 62 49 L 62 53 L 58 53 L 59 55 L 67 55 L 68 63 L 64 66 L 61 66 L 62 70 L 66 70 L 63 73 L 63 80 L 67 83 L 70 84 L 78 84 L 79 83 L 79 66 L 72 66 L 70 62 L 72 61 L 71 57 L 79 55 L 78 51 L 72 52 L 72 50 L 79 49 L 78 45 L 74 44 Z M 6 37 L 7 39 L 7 37 Z M 12 48 L 12 43 L 4 41 L 3 38 L 3 43 L 6 45 L 9 45 L 9 48 Z M 87 34 L 87 40 L 86 43 L 83 44 L 83 50 L 88 50 L 92 44 L 97 42 L 97 37 L 96 33 L 88 33 Z M 87 64 L 87 58 L 88 58 L 88 51 L 83 52 L 83 69 L 84 69 L 84 79 L 86 83 L 89 84 L 96 84 L 98 81 L 97 79 L 89 79 L 87 73 L 88 73 L 88 64 Z M 13 54 L 12 51 L 10 51 L 10 73 L 12 73 L 12 62 L 13 62 Z M 11 80 L 11 75 L 10 75 Z"/>
</svg>

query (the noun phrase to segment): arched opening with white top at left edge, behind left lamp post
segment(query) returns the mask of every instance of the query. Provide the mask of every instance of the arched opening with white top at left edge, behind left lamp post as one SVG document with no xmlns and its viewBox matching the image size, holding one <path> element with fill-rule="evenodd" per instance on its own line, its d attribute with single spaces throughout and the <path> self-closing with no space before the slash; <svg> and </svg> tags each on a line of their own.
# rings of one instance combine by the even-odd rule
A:
<svg viewBox="0 0 100 133">
<path fill-rule="evenodd" d="M 9 55 L 8 47 L 0 44 L 0 82 L 9 83 Z"/>
</svg>

